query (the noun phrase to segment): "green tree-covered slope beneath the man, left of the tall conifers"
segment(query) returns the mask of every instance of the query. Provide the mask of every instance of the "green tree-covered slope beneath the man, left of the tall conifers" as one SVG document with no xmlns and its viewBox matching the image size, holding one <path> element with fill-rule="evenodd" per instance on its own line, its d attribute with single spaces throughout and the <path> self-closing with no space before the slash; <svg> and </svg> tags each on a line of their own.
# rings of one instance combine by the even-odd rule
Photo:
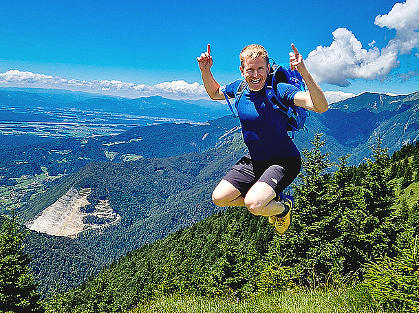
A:
<svg viewBox="0 0 419 313">
<path fill-rule="evenodd" d="M 227 294 L 228 284 L 248 285 L 251 292 L 256 288 L 255 268 L 260 268 L 273 234 L 266 219 L 254 217 L 246 208 L 229 208 L 129 252 L 69 291 L 59 305 L 65 312 L 72 308 L 120 312 L 158 294 L 192 290 Z"/>
</svg>

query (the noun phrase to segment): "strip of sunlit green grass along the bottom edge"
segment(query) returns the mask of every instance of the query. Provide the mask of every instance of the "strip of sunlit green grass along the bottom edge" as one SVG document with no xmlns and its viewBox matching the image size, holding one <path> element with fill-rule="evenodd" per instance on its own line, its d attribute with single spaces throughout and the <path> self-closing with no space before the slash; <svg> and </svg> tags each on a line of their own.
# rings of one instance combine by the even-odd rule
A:
<svg viewBox="0 0 419 313">
<path fill-rule="evenodd" d="M 356 287 L 291 290 L 243 301 L 174 295 L 138 305 L 129 313 L 383 313 Z"/>
</svg>

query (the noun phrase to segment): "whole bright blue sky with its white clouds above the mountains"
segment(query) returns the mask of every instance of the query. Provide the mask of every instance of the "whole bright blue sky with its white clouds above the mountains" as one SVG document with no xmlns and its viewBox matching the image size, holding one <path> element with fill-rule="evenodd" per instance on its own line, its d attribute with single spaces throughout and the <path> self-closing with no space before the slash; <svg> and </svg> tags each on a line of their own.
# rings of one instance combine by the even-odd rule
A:
<svg viewBox="0 0 419 313">
<path fill-rule="evenodd" d="M 196 57 L 240 78 L 239 52 L 277 63 L 294 43 L 331 101 L 419 90 L 419 0 L 3 1 L 0 87 L 204 98 Z"/>
</svg>

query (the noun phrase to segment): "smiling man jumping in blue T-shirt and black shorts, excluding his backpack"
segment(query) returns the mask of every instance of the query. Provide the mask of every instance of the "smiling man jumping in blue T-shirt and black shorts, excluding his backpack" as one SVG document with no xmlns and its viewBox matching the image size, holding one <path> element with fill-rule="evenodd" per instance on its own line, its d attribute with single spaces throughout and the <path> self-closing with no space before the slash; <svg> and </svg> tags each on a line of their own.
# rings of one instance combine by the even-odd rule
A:
<svg viewBox="0 0 419 313">
<path fill-rule="evenodd" d="M 279 83 L 275 92 L 284 105 L 298 105 L 314 112 L 327 111 L 328 103 L 319 85 L 305 67 L 303 57 L 291 45 L 290 67 L 297 70 L 308 91 Z M 206 92 L 213 100 L 224 99 L 223 88 L 211 73 L 211 47 L 197 58 Z M 236 103 L 244 143 L 244 155 L 213 191 L 217 206 L 246 206 L 250 213 L 268 217 L 278 234 L 291 223 L 294 199 L 283 195 L 301 170 L 301 156 L 287 133 L 288 116 L 270 105 L 266 96 L 266 78 L 270 73 L 268 52 L 261 45 L 248 45 L 240 53 L 240 72 L 247 86 Z M 228 98 L 235 98 L 241 80 L 224 87 Z"/>
</svg>

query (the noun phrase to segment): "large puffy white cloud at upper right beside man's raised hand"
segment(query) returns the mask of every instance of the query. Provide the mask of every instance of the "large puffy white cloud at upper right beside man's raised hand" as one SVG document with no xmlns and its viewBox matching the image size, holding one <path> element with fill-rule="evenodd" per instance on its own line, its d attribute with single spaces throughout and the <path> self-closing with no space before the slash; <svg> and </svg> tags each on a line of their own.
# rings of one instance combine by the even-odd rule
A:
<svg viewBox="0 0 419 313">
<path fill-rule="evenodd" d="M 378 15 L 375 23 L 380 28 L 396 30 L 381 51 L 374 47 L 366 50 L 350 30 L 338 28 L 333 32 L 329 47 L 319 46 L 310 52 L 306 63 L 319 83 L 347 87 L 350 80 L 386 80 L 398 66 L 398 55 L 410 53 L 419 47 L 419 0 L 396 3 L 389 14 Z"/>
</svg>

